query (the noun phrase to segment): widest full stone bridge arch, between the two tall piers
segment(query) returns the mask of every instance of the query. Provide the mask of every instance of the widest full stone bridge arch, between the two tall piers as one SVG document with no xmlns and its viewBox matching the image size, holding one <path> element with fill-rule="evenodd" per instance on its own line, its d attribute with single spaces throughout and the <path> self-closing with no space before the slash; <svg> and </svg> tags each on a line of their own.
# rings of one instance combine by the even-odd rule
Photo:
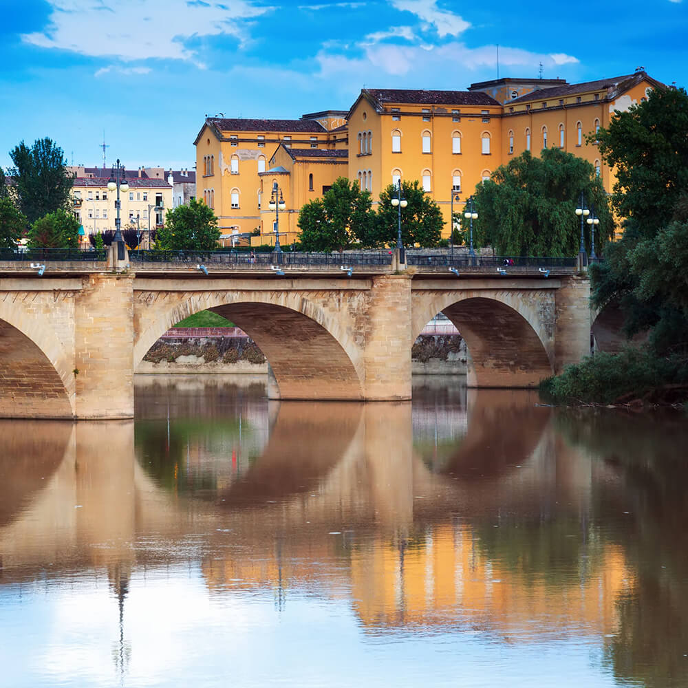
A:
<svg viewBox="0 0 688 688">
<path fill-rule="evenodd" d="M 355 334 L 321 305 L 296 292 L 186 292 L 143 302 L 135 314 L 134 366 L 170 327 L 212 310 L 244 330 L 265 354 L 283 399 L 364 398 L 365 367 Z M 176 296 L 176 294 L 175 294 Z M 168 301 L 162 303 L 160 301 Z M 336 305 L 336 304 L 333 304 Z M 136 309 L 135 309 L 136 310 Z"/>
</svg>

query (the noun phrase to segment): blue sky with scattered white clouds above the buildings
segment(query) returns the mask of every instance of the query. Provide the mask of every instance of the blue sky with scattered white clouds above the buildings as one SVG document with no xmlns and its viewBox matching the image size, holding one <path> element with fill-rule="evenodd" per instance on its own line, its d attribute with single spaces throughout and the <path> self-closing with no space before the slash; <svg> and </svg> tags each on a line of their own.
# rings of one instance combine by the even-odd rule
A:
<svg viewBox="0 0 688 688">
<path fill-rule="evenodd" d="M 193 167 L 204 116 L 348 109 L 361 87 L 570 82 L 643 65 L 688 85 L 688 0 L 0 0 L 0 166 L 50 136 L 69 162 Z"/>
</svg>

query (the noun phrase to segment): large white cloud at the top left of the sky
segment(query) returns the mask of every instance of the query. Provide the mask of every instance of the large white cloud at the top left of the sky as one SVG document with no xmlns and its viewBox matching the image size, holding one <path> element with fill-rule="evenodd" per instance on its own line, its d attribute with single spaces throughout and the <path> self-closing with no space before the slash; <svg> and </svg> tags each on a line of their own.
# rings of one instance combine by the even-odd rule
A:
<svg viewBox="0 0 688 688">
<path fill-rule="evenodd" d="M 124 61 L 192 60 L 193 50 L 184 47 L 192 36 L 233 36 L 243 44 L 248 39 L 244 20 L 271 10 L 250 0 L 118 0 L 108 7 L 102 0 L 48 1 L 50 24 L 24 34 L 26 43 Z"/>
</svg>

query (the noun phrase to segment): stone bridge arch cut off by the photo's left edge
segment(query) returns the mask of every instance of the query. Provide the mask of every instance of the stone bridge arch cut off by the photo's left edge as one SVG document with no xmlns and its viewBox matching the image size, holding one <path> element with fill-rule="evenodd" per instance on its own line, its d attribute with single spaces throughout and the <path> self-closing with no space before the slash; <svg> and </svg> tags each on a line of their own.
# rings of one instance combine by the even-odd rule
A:
<svg viewBox="0 0 688 688">
<path fill-rule="evenodd" d="M 0 416 L 74 418 L 74 363 L 45 320 L 0 302 Z"/>
</svg>

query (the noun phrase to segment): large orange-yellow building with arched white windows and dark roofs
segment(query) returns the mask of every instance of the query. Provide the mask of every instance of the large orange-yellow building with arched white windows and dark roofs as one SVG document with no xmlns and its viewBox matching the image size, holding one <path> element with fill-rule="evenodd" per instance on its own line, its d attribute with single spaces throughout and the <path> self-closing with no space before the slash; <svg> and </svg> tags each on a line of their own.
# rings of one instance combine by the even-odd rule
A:
<svg viewBox="0 0 688 688">
<path fill-rule="evenodd" d="M 280 241 L 289 244 L 301 206 L 339 175 L 358 181 L 374 204 L 389 184 L 418 180 L 442 209 L 447 237 L 452 205 L 460 210 L 476 184 L 526 150 L 539 155 L 560 147 L 579 155 L 611 191 L 613 171 L 586 136 L 658 86 L 642 69 L 579 84 L 502 78 L 467 91 L 364 88 L 346 114 L 207 118 L 195 140 L 197 197 L 215 208 L 223 233 L 258 230 L 252 244 L 273 244 L 275 213 L 267 203 L 277 182 L 286 206 Z"/>
</svg>

